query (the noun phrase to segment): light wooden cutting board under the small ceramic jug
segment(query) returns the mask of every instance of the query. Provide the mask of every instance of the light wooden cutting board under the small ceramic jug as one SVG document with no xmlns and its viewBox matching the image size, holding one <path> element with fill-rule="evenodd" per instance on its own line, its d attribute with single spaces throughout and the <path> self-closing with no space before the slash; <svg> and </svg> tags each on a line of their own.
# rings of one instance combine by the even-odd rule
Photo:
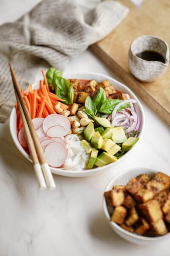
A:
<svg viewBox="0 0 170 256">
<path fill-rule="evenodd" d="M 131 42 L 141 35 L 158 36 L 170 46 L 170 0 L 145 0 L 139 8 L 130 0 L 119 2 L 130 9 L 128 16 L 90 48 L 170 125 L 170 66 L 160 79 L 144 83 L 131 74 L 127 60 Z"/>
</svg>

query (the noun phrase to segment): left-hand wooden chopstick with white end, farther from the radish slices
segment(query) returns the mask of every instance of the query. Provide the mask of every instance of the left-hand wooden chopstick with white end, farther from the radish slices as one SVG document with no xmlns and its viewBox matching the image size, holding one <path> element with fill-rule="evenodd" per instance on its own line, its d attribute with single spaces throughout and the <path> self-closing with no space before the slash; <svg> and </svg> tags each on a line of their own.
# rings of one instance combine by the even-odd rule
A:
<svg viewBox="0 0 170 256">
<path fill-rule="evenodd" d="M 22 124 L 23 124 L 23 127 L 24 127 L 25 137 L 26 137 L 26 140 L 27 140 L 27 143 L 28 143 L 29 152 L 30 152 L 30 155 L 31 155 L 32 163 L 34 165 L 34 171 L 36 173 L 36 177 L 37 177 L 37 180 L 39 182 L 39 188 L 41 190 L 44 190 L 44 189 L 46 189 L 46 183 L 45 183 L 45 179 L 44 179 L 44 176 L 43 176 L 43 173 L 42 173 L 41 165 L 39 163 L 39 159 L 37 157 L 37 152 L 36 152 L 36 149 L 34 147 L 32 137 L 31 137 L 31 133 L 29 131 L 29 127 L 28 127 L 28 124 L 26 122 L 26 118 L 25 118 L 25 115 L 24 115 L 24 112 L 23 112 L 23 109 L 22 109 L 22 106 L 20 104 L 19 97 L 18 97 L 18 94 L 17 94 L 17 91 L 15 90 L 15 88 L 14 88 L 14 91 L 15 91 L 15 97 L 16 97 L 17 103 L 18 103 L 20 116 L 21 116 L 21 119 L 22 119 Z"/>
</svg>

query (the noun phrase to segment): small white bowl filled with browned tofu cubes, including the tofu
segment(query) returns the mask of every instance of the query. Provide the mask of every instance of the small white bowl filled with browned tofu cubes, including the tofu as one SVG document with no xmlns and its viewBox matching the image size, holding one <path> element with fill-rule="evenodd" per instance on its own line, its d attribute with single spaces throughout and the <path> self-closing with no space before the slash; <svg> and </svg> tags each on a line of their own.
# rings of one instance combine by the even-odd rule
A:
<svg viewBox="0 0 170 256">
<path fill-rule="evenodd" d="M 111 228 L 138 245 L 170 238 L 169 187 L 168 173 L 151 168 L 133 168 L 117 174 L 103 198 Z"/>
</svg>

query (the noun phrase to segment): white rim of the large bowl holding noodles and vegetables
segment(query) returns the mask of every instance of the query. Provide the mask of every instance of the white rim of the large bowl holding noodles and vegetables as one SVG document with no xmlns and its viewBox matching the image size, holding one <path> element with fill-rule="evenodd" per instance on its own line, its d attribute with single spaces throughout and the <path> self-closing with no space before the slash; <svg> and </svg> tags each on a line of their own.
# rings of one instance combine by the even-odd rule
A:
<svg viewBox="0 0 170 256">
<path fill-rule="evenodd" d="M 108 75 L 104 75 L 104 74 L 100 74 L 100 73 L 96 73 L 96 72 L 71 72 L 71 73 L 63 73 L 63 76 L 78 76 L 78 75 L 94 75 L 94 79 L 95 79 L 95 76 L 102 76 L 103 78 L 105 79 L 110 79 L 113 81 L 113 83 L 117 83 L 118 85 L 122 86 L 128 93 L 130 93 L 132 95 L 132 97 L 134 99 L 137 99 L 138 102 L 138 106 L 139 106 L 139 110 L 141 112 L 141 119 L 142 119 L 142 123 L 141 123 L 141 130 L 140 130 L 140 139 L 142 138 L 142 135 L 143 135 L 143 132 L 144 132 L 144 126 L 145 126 L 145 115 L 144 115 L 144 110 L 143 110 L 143 107 L 141 105 L 141 102 L 139 101 L 138 97 L 133 93 L 133 91 L 130 90 L 130 88 L 128 88 L 126 85 L 124 85 L 123 83 L 119 82 L 118 80 L 114 79 L 113 77 L 110 77 Z M 32 86 L 36 86 L 38 85 L 39 82 L 36 82 L 36 83 L 33 83 Z M 116 85 L 117 86 L 117 85 Z M 115 86 L 115 87 L 116 87 Z M 9 129 L 10 129 L 10 133 L 11 133 L 11 137 L 12 137 L 12 140 L 14 141 L 15 143 L 15 146 L 19 149 L 19 151 L 21 152 L 22 155 L 24 155 L 26 157 L 26 159 L 28 159 L 30 162 L 32 162 L 32 160 L 30 159 L 29 155 L 26 153 L 26 151 L 22 148 L 22 146 L 20 145 L 18 139 L 16 140 L 15 138 L 15 133 L 13 132 L 12 130 L 12 116 L 14 115 L 14 112 L 16 113 L 16 110 L 15 110 L 15 107 L 13 107 L 12 111 L 11 111 L 11 115 L 10 115 L 10 118 L 9 118 Z M 139 140 L 140 141 L 140 140 Z M 138 141 L 137 143 L 138 144 Z M 82 174 L 85 174 L 85 176 L 88 176 L 88 174 L 96 174 L 98 171 L 101 171 L 101 170 L 104 170 L 105 168 L 109 168 L 113 165 L 115 165 L 116 163 L 120 162 L 121 160 L 123 160 L 125 157 L 128 156 L 128 154 L 131 153 L 131 151 L 134 150 L 134 148 L 136 147 L 136 144 L 134 144 L 134 146 L 130 149 L 130 151 L 128 151 L 125 155 L 123 155 L 117 162 L 114 162 L 114 163 L 109 163 L 108 165 L 105 165 L 105 166 L 102 166 L 102 167 L 96 167 L 96 168 L 93 168 L 93 169 L 88 169 L 88 170 L 82 170 L 82 171 L 76 171 L 76 170 L 63 170 L 63 169 L 60 169 L 60 168 L 54 168 L 54 167 L 51 167 L 50 166 L 50 169 L 52 171 L 52 173 L 54 174 L 59 174 L 59 175 L 62 175 L 62 176 L 67 176 L 68 174 L 70 174 L 71 176 L 74 176 L 76 177 L 76 174 L 77 174 L 77 177 L 79 177 L 79 175 L 81 176 Z M 66 175 L 67 174 L 67 175 Z M 71 177 L 70 176 L 70 177 Z M 83 176 L 83 175 L 82 175 Z"/>
</svg>

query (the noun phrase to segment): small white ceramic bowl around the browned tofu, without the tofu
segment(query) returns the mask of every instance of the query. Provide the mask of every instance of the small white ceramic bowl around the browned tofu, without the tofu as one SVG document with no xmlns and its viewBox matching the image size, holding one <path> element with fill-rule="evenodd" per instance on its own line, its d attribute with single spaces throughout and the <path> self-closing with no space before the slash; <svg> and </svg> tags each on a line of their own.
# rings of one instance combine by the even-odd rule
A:
<svg viewBox="0 0 170 256">
<path fill-rule="evenodd" d="M 158 173 L 158 170 L 153 170 L 151 168 L 132 168 L 128 169 L 125 171 L 122 171 L 121 173 L 117 174 L 116 176 L 111 179 L 109 184 L 107 185 L 105 191 L 109 191 L 113 188 L 114 185 L 126 185 L 128 181 L 132 177 L 136 177 L 142 173 L 147 173 L 149 177 L 155 176 L 156 173 Z M 169 175 L 168 173 L 164 172 L 165 174 Z M 125 240 L 131 242 L 131 243 L 136 243 L 138 245 L 151 245 L 155 242 L 158 242 L 158 240 L 170 238 L 170 232 L 164 236 L 158 236 L 158 237 L 145 237 L 145 236 L 139 236 L 138 234 L 135 233 L 130 233 L 126 231 L 125 229 L 121 228 L 119 225 L 117 225 L 115 222 L 110 221 L 110 215 L 107 210 L 107 204 L 105 201 L 105 198 L 103 197 L 103 208 L 104 208 L 104 213 L 107 218 L 107 221 L 111 228 L 122 238 Z"/>
</svg>

